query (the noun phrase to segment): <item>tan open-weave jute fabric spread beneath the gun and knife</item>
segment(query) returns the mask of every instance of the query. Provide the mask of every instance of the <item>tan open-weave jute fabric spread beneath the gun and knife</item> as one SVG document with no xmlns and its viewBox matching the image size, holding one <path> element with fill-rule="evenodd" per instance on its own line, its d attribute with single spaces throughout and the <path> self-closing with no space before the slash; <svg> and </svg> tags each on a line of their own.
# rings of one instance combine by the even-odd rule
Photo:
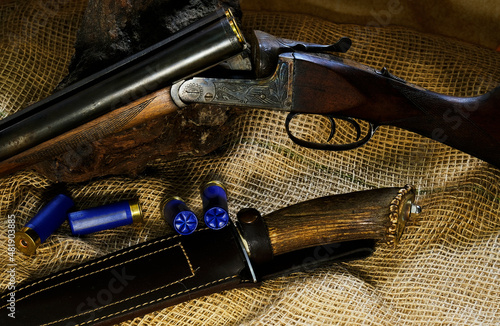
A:
<svg viewBox="0 0 500 326">
<path fill-rule="evenodd" d="M 49 95 L 64 76 L 85 6 L 33 3 L 0 7 L 2 116 Z M 444 94 L 473 96 L 500 84 L 500 54 L 457 40 L 284 13 L 245 12 L 243 25 L 317 43 L 349 36 L 353 47 L 345 57 L 377 69 L 388 67 L 411 83 Z M 36 256 L 15 256 L 16 282 L 172 233 L 161 218 L 161 200 L 177 195 L 200 213 L 199 187 L 210 176 L 227 185 L 232 217 L 244 207 L 266 214 L 320 196 L 410 183 L 418 188 L 423 212 L 395 249 L 381 244 L 368 259 L 213 294 L 123 325 L 498 325 L 498 169 L 391 127 L 380 128 L 356 150 L 310 150 L 288 139 L 284 121 L 282 113 L 248 110 L 216 153 L 151 162 L 138 177 L 68 184 L 82 208 L 139 198 L 144 225 L 75 238 L 65 223 Z M 328 131 L 322 123 L 306 118 L 296 127 L 304 135 L 323 137 Z M 47 190 L 53 186 L 30 171 L 0 179 L 2 291 L 9 281 L 7 217 L 14 215 L 20 229 L 50 199 Z"/>
</svg>

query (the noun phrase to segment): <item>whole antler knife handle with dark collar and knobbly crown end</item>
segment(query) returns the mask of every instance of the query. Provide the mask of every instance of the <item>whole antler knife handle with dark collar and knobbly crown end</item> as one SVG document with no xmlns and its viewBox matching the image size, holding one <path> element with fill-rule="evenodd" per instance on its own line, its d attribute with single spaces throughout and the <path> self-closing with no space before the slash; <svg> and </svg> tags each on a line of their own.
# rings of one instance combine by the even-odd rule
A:
<svg viewBox="0 0 500 326">
<path fill-rule="evenodd" d="M 397 244 L 410 215 L 419 213 L 415 188 L 382 188 L 333 195 L 292 205 L 260 217 L 255 209 L 238 213 L 250 258 L 351 240 Z M 267 247 L 267 248 L 266 248 Z M 269 250 L 270 249 L 270 250 Z"/>
</svg>

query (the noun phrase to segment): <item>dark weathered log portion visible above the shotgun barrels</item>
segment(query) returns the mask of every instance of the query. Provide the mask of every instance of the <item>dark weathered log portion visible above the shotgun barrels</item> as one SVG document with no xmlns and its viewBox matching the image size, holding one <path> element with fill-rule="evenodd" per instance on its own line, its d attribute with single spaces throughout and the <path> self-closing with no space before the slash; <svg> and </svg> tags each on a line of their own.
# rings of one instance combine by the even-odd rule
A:
<svg viewBox="0 0 500 326">
<path fill-rule="evenodd" d="M 166 39 L 221 7 L 241 17 L 238 0 L 89 0 L 69 73 L 56 90 Z"/>
</svg>

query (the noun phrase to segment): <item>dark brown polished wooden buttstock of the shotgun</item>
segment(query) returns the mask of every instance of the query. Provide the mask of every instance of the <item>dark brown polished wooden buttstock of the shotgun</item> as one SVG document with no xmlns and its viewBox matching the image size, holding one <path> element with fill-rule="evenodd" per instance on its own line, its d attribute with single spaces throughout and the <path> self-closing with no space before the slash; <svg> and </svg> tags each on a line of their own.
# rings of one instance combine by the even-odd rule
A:
<svg viewBox="0 0 500 326">
<path fill-rule="evenodd" d="M 294 54 L 294 109 L 392 125 L 500 167 L 500 87 L 453 97 L 406 83 L 386 69 Z"/>
</svg>

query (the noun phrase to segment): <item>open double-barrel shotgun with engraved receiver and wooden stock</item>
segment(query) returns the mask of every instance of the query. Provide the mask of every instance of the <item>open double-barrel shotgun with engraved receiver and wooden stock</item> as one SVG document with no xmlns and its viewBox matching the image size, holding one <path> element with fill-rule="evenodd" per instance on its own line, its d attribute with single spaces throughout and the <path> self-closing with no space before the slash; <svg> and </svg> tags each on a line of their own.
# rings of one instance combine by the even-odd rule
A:
<svg viewBox="0 0 500 326">
<path fill-rule="evenodd" d="M 87 164 L 87 172 L 99 166 L 112 172 L 123 161 L 143 165 L 152 158 L 141 160 L 127 146 L 172 137 L 175 126 L 166 131 L 153 126 L 190 104 L 289 112 L 286 132 L 309 148 L 353 149 L 379 126 L 391 125 L 500 166 L 500 87 L 468 98 L 434 93 L 386 68 L 336 55 L 350 46 L 346 37 L 318 45 L 260 31 L 247 41 L 230 11 L 219 10 L 1 120 L 0 175 L 57 161 L 46 171 L 66 165 L 69 176 L 60 180 L 81 181 L 78 164 Z M 294 120 L 303 114 L 328 119 L 329 135 L 311 139 L 294 132 Z M 352 131 L 346 143 L 338 142 L 339 124 Z"/>
</svg>

